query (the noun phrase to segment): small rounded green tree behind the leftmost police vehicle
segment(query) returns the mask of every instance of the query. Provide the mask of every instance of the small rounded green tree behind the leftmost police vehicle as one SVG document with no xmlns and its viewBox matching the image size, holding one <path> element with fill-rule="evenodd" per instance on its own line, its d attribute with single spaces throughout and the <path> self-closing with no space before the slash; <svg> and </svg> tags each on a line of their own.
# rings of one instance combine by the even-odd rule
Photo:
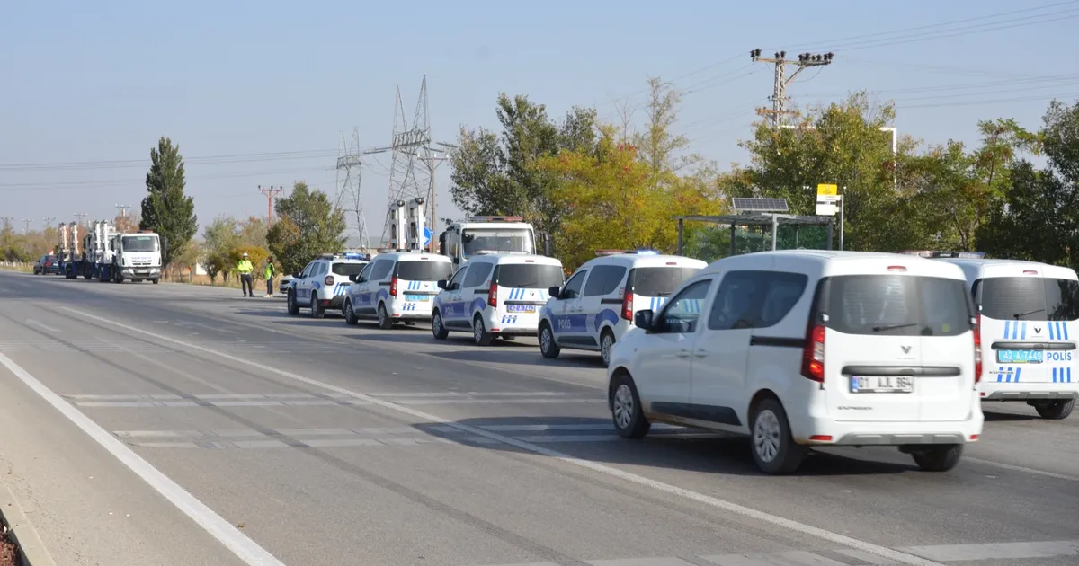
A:
<svg viewBox="0 0 1079 566">
<path fill-rule="evenodd" d="M 296 273 L 319 253 L 344 248 L 344 211 L 326 193 L 300 181 L 276 201 L 279 219 L 267 234 L 270 251 L 284 273 Z"/>
</svg>

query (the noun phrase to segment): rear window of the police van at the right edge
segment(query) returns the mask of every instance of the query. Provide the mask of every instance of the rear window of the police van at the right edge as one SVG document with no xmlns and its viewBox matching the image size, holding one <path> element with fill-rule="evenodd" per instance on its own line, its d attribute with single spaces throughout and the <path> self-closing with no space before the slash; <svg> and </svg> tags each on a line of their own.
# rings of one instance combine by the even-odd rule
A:
<svg viewBox="0 0 1079 566">
<path fill-rule="evenodd" d="M 982 316 L 996 320 L 1079 319 L 1079 281 L 1046 277 L 986 277 L 974 284 Z"/>
</svg>

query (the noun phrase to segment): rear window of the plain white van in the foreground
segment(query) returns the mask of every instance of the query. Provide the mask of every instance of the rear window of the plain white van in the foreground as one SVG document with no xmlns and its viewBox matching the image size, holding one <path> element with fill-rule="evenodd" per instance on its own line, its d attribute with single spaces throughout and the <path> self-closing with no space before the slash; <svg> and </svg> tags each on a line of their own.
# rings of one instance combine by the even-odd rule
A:
<svg viewBox="0 0 1079 566">
<path fill-rule="evenodd" d="M 828 328 L 844 334 L 956 336 L 970 330 L 973 305 L 966 281 L 906 275 L 844 275 L 824 279 Z"/>
</svg>

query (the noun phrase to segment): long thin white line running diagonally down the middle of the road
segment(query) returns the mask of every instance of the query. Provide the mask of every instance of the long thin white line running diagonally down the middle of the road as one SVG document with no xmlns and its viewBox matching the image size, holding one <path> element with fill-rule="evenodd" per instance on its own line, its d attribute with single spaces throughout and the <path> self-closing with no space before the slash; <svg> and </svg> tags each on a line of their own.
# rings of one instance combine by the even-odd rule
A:
<svg viewBox="0 0 1079 566">
<path fill-rule="evenodd" d="M 582 458 L 577 458 L 577 457 L 574 457 L 574 456 L 570 456 L 569 454 L 563 454 L 561 452 L 557 452 L 557 451 L 550 450 L 550 448 L 546 448 L 546 447 L 540 446 L 537 444 L 533 444 L 533 443 L 530 443 L 530 442 L 520 441 L 520 440 L 517 440 L 517 439 L 514 439 L 514 438 L 510 438 L 510 437 L 506 437 L 504 434 L 498 434 L 497 432 L 491 432 L 491 431 L 483 430 L 481 428 L 474 427 L 474 426 L 470 426 L 470 425 L 463 425 L 461 423 L 455 423 L 455 422 L 453 422 L 451 419 L 442 418 L 440 416 L 432 415 L 432 414 L 428 414 L 428 413 L 424 413 L 423 411 L 419 411 L 416 409 L 411 409 L 409 406 L 405 406 L 405 405 L 401 405 L 401 404 L 398 404 L 398 403 L 393 403 L 393 402 L 390 402 L 390 401 L 385 401 L 383 399 L 379 399 L 379 398 L 371 397 L 371 396 L 368 396 L 368 395 L 364 395 L 364 394 L 360 394 L 360 392 L 352 391 L 352 390 L 345 389 L 343 387 L 338 387 L 336 385 L 331 385 L 331 384 L 328 384 L 328 383 L 319 382 L 318 379 L 312 379 L 310 377 L 304 377 L 302 375 L 298 375 L 298 374 L 295 374 L 295 373 L 291 373 L 291 372 L 287 372 L 287 371 L 281 370 L 278 368 L 273 368 L 273 367 L 270 367 L 270 365 L 265 365 L 265 364 L 262 364 L 262 363 L 259 363 L 259 362 L 256 362 L 256 361 L 250 361 L 250 360 L 246 360 L 246 359 L 243 359 L 243 358 L 237 358 L 235 356 L 231 356 L 229 354 L 220 353 L 220 351 L 217 351 L 215 349 L 207 348 L 207 347 L 204 347 L 204 346 L 199 346 L 199 345 L 195 345 L 195 344 L 186 343 L 183 341 L 179 341 L 179 340 L 176 340 L 174 337 L 169 337 L 169 336 L 165 336 L 165 335 L 162 335 L 162 334 L 158 334 L 155 332 L 150 332 L 148 330 L 144 330 L 144 329 L 140 329 L 140 328 L 136 328 L 136 327 L 132 327 L 132 326 L 128 326 L 128 325 L 124 325 L 122 322 L 117 322 L 115 320 L 110 320 L 110 319 L 107 319 L 107 318 L 104 318 L 104 317 L 99 317 L 99 316 L 96 316 L 96 315 L 91 315 L 88 313 L 83 313 L 82 310 L 78 310 L 76 308 L 71 308 L 71 307 L 68 307 L 68 306 L 62 306 L 60 308 L 63 308 L 65 310 L 68 310 L 70 313 L 73 313 L 76 315 L 88 318 L 91 320 L 96 320 L 98 322 L 103 322 L 103 323 L 106 323 L 106 325 L 111 325 L 113 327 L 122 328 L 122 329 L 128 330 L 131 332 L 137 332 L 139 334 L 145 334 L 147 336 L 152 336 L 152 337 L 155 337 L 158 340 L 164 340 L 164 341 L 170 342 L 173 344 L 185 345 L 187 347 L 190 347 L 190 348 L 193 348 L 193 349 L 197 349 L 197 350 L 204 351 L 206 354 L 211 354 L 214 356 L 218 356 L 220 358 L 223 358 L 223 359 L 236 362 L 236 363 L 243 363 L 245 365 L 248 365 L 250 368 L 255 368 L 257 370 L 261 370 L 263 372 L 268 372 L 268 373 L 273 373 L 273 374 L 276 374 L 276 375 L 281 375 L 282 377 L 287 377 L 289 379 L 293 379 L 293 381 L 297 381 L 297 382 L 300 382 L 300 383 L 304 383 L 304 384 L 308 384 L 308 385 L 319 387 L 322 389 L 327 389 L 327 390 L 330 390 L 330 391 L 334 391 L 334 392 L 339 392 L 339 394 L 352 396 L 352 397 L 354 397 L 356 399 L 359 399 L 359 400 L 363 400 L 363 401 L 367 401 L 369 403 L 373 403 L 373 404 L 377 404 L 379 406 L 382 406 L 383 409 L 388 409 L 391 411 L 396 411 L 398 413 L 402 413 L 402 414 L 406 414 L 406 415 L 411 415 L 411 416 L 414 416 L 416 418 L 421 418 L 421 419 L 428 420 L 428 422 L 432 422 L 432 423 L 438 423 L 438 424 L 441 424 L 441 425 L 450 426 L 450 427 L 453 427 L 453 428 L 455 428 L 457 430 L 461 430 L 461 431 L 464 431 L 464 432 L 468 432 L 468 433 L 475 434 L 477 437 L 484 437 L 484 438 L 491 439 L 493 441 L 501 442 L 503 444 L 508 444 L 510 446 L 516 446 L 518 448 L 521 448 L 521 450 L 527 451 L 527 452 L 531 452 L 533 454 L 540 454 L 540 455 L 543 455 L 543 456 L 547 456 L 549 458 L 558 459 L 558 460 L 560 460 L 562 463 L 565 463 L 565 464 L 577 466 L 579 468 L 585 468 L 585 469 L 588 469 L 588 470 L 591 470 L 591 471 L 595 471 L 595 472 L 598 472 L 598 473 L 611 475 L 613 478 L 617 478 L 617 479 L 624 480 L 626 482 L 636 483 L 638 485 L 642 485 L 644 487 L 648 487 L 648 488 L 652 488 L 652 489 L 655 489 L 655 491 L 658 491 L 658 492 L 664 492 L 664 493 L 667 493 L 667 494 L 670 494 L 670 495 L 675 495 L 675 496 L 679 496 L 679 497 L 683 497 L 685 499 L 689 499 L 689 500 L 696 501 L 698 503 L 702 503 L 702 505 L 707 505 L 707 506 L 710 506 L 710 507 L 714 507 L 716 509 L 721 509 L 721 510 L 727 511 L 729 513 L 734 513 L 734 514 L 742 515 L 742 516 L 746 516 L 746 517 L 749 517 L 749 519 L 753 519 L 753 520 L 760 521 L 762 523 L 767 523 L 769 525 L 778 526 L 778 527 L 786 528 L 786 529 L 789 529 L 789 530 L 795 530 L 795 532 L 802 533 L 804 535 L 809 535 L 809 536 L 812 536 L 812 537 L 817 537 L 817 538 L 820 538 L 822 540 L 828 540 L 828 541 L 836 543 L 836 544 L 842 544 L 844 547 L 850 547 L 852 549 L 862 550 L 862 551 L 869 552 L 871 554 L 876 554 L 878 556 L 884 556 L 884 557 L 887 557 L 887 558 L 891 558 L 891 560 L 893 560 L 896 562 L 899 562 L 901 564 L 909 564 L 909 565 L 912 565 L 912 566 L 942 566 L 942 565 L 940 565 L 940 564 L 938 564 L 935 562 L 928 561 L 928 560 L 923 558 L 920 556 L 915 556 L 913 554 L 907 554 L 905 552 L 900 552 L 900 551 L 897 551 L 897 550 L 893 550 L 893 549 L 889 549 L 887 547 L 882 547 L 879 544 L 874 544 L 872 542 L 868 542 L 868 541 L 864 541 L 864 540 L 859 540 L 859 539 L 856 539 L 856 538 L 852 538 L 852 537 L 841 535 L 838 533 L 832 533 L 831 530 L 825 530 L 823 528 L 815 527 L 812 525 L 807 525 L 805 523 L 800 523 L 797 521 L 793 521 L 793 520 L 790 520 L 790 519 L 784 519 L 784 517 L 781 517 L 781 516 L 778 516 L 778 515 L 774 515 L 771 513 L 766 513 L 764 511 L 760 511 L 760 510 L 756 510 L 756 509 L 751 509 L 749 507 L 743 507 L 743 506 L 740 506 L 738 503 L 735 503 L 735 502 L 732 502 L 732 501 L 727 501 L 725 499 L 720 499 L 718 497 L 712 497 L 712 496 L 709 496 L 709 495 L 699 494 L 697 492 L 694 492 L 694 491 L 691 491 L 691 489 L 686 489 L 684 487 L 678 487 L 678 486 L 674 486 L 674 485 L 671 485 L 671 484 L 668 484 L 668 483 L 664 483 L 664 482 L 660 482 L 660 481 L 657 481 L 657 480 L 652 480 L 650 478 L 645 478 L 643 475 L 638 475 L 636 473 L 630 473 L 630 472 L 627 472 L 627 471 L 623 471 L 623 470 L 619 470 L 617 468 L 613 468 L 611 466 L 605 466 L 605 465 L 602 465 L 602 464 L 597 464 L 595 461 L 589 461 L 589 460 L 586 460 L 586 459 L 582 459 Z M 103 432 L 104 432 L 104 430 L 103 430 Z M 109 437 L 109 438 L 111 440 L 115 440 L 115 439 L 112 439 L 111 437 Z"/>
</svg>

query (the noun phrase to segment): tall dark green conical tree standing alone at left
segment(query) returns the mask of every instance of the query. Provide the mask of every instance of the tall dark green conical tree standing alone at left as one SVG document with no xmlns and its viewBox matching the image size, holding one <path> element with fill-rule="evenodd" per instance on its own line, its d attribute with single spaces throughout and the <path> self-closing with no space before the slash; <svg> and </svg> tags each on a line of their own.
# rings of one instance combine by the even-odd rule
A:
<svg viewBox="0 0 1079 566">
<path fill-rule="evenodd" d="M 142 199 L 141 230 L 152 230 L 161 235 L 165 247 L 162 261 L 165 265 L 183 250 L 199 230 L 194 198 L 183 193 L 183 157 L 178 146 L 168 138 L 161 138 L 150 150 L 150 172 L 146 174 L 149 194 Z"/>
</svg>

